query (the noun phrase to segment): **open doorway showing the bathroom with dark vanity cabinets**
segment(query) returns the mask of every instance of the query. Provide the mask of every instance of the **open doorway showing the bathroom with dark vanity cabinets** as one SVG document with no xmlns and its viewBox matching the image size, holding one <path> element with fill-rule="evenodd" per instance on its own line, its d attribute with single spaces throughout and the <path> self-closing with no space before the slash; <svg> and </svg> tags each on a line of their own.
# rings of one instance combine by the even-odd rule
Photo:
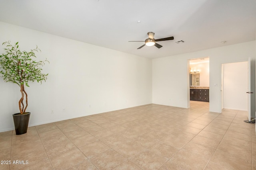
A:
<svg viewBox="0 0 256 170">
<path fill-rule="evenodd" d="M 209 101 L 209 84 L 210 84 L 210 72 L 209 72 L 209 57 L 190 59 L 188 61 L 189 66 L 189 91 L 190 101 L 210 102 Z M 189 105 L 190 106 L 190 105 Z"/>
</svg>

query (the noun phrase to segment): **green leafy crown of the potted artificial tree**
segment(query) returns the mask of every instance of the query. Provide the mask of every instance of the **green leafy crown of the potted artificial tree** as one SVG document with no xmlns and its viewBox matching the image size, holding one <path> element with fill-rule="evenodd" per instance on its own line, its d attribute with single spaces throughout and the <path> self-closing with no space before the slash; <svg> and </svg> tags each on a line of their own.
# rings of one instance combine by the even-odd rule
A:
<svg viewBox="0 0 256 170">
<path fill-rule="evenodd" d="M 0 55 L 0 77 L 4 78 L 5 82 L 13 82 L 21 86 L 22 84 L 29 86 L 28 82 L 46 81 L 48 74 L 42 74 L 42 66 L 49 61 L 35 61 L 35 52 L 40 51 L 36 49 L 30 51 L 20 51 L 18 42 L 11 45 L 10 41 L 4 42 L 5 53 Z"/>
</svg>

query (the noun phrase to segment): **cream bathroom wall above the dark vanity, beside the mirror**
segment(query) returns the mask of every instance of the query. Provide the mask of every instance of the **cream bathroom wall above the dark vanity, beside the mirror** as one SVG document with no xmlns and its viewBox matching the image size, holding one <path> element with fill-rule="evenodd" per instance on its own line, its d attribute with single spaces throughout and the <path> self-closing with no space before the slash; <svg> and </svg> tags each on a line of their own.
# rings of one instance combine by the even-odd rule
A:
<svg viewBox="0 0 256 170">
<path fill-rule="evenodd" d="M 190 64 L 190 69 L 200 70 L 200 87 L 209 87 L 209 63 Z"/>
</svg>

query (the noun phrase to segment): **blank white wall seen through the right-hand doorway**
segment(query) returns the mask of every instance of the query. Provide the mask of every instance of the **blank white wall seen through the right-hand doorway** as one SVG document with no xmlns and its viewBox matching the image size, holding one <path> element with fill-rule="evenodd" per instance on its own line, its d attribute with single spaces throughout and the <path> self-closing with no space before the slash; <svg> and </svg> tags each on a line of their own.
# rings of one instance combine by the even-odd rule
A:
<svg viewBox="0 0 256 170">
<path fill-rule="evenodd" d="M 248 62 L 223 64 L 223 107 L 248 110 Z"/>
</svg>

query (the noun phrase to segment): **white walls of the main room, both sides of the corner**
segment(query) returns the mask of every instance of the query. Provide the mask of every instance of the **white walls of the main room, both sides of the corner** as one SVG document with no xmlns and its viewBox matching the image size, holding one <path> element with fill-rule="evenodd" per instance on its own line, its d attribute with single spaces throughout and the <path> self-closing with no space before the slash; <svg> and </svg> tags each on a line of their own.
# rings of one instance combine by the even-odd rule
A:
<svg viewBox="0 0 256 170">
<path fill-rule="evenodd" d="M 3 22 L 0 35 L 0 42 L 19 41 L 24 50 L 38 45 L 38 58 L 50 61 L 44 66 L 48 80 L 26 88 L 30 126 L 150 103 L 187 108 L 188 60 L 208 56 L 210 111 L 220 113 L 221 65 L 248 57 L 255 62 L 256 53 L 250 41 L 151 60 Z M 19 111 L 19 98 L 19 87 L 0 78 L 0 131 L 14 128 L 11 115 Z"/>
</svg>

